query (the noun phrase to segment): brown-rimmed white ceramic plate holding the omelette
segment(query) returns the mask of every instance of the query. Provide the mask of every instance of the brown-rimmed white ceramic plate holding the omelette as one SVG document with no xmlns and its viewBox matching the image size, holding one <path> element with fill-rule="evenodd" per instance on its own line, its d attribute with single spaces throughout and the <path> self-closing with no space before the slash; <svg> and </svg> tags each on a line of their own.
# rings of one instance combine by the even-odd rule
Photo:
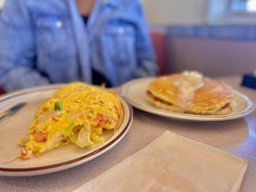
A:
<svg viewBox="0 0 256 192">
<path fill-rule="evenodd" d="M 133 111 L 131 106 L 121 98 L 123 115 L 120 117 L 118 130 L 116 133 L 113 130 L 104 130 L 102 134 L 105 139 L 104 143 L 85 148 L 70 144 L 56 148 L 37 158 L 12 161 L 15 157 L 20 156 L 23 147 L 18 145 L 18 140 L 28 134 L 27 130 L 33 120 L 35 110 L 61 86 L 61 84 L 53 84 L 35 87 L 0 97 L 0 116 L 6 108 L 17 102 L 25 101 L 28 103 L 0 122 L 0 175 L 40 175 L 80 165 L 108 151 L 130 129 Z"/>
</svg>

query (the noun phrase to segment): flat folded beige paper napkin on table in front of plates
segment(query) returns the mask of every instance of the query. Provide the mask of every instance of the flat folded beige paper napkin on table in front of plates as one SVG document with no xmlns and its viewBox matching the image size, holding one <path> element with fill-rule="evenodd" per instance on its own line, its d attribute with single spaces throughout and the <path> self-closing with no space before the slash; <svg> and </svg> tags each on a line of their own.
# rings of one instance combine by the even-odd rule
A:
<svg viewBox="0 0 256 192">
<path fill-rule="evenodd" d="M 169 131 L 75 192 L 239 192 L 247 161 Z"/>
</svg>

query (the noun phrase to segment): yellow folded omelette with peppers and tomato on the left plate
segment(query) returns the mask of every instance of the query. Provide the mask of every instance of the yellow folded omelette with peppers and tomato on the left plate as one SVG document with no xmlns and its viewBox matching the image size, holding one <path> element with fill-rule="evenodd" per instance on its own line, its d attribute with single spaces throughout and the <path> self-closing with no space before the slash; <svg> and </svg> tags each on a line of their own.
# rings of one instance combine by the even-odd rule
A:
<svg viewBox="0 0 256 192">
<path fill-rule="evenodd" d="M 21 157 L 38 156 L 56 147 L 102 143 L 104 129 L 115 129 L 121 102 L 112 91 L 84 83 L 71 83 L 57 90 L 37 108 L 29 135 L 19 140 Z"/>
</svg>

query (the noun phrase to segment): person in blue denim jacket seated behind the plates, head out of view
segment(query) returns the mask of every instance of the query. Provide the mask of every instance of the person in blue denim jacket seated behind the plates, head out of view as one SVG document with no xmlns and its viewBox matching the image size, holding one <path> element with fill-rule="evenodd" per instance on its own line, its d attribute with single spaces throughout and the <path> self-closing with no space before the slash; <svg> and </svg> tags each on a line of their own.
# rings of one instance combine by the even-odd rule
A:
<svg viewBox="0 0 256 192">
<path fill-rule="evenodd" d="M 118 86 L 157 74 L 139 0 L 7 0 L 0 86 L 83 81 Z"/>
</svg>

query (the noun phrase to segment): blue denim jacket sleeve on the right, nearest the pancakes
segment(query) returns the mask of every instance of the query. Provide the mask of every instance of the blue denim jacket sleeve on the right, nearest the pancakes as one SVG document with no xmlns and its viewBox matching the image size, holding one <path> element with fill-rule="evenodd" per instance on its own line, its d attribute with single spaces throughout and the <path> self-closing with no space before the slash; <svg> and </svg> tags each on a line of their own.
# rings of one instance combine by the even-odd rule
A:
<svg viewBox="0 0 256 192">
<path fill-rule="evenodd" d="M 134 74 L 134 77 L 138 78 L 146 76 L 156 76 L 158 74 L 156 54 L 152 47 L 145 15 L 139 0 L 134 0 L 134 8 L 138 18 L 136 26 L 136 53 L 138 67 Z"/>
</svg>

